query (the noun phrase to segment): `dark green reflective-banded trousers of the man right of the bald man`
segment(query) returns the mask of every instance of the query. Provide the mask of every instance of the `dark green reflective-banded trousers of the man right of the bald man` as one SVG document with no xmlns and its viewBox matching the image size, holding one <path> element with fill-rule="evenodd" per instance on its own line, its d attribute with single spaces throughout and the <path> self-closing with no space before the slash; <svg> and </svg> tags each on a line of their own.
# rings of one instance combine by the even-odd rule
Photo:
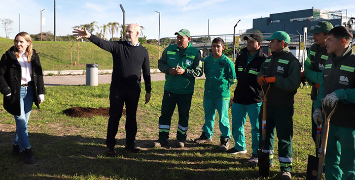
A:
<svg viewBox="0 0 355 180">
<path fill-rule="evenodd" d="M 176 94 L 167 90 L 164 91 L 161 116 L 159 117 L 159 140 L 169 139 L 171 119 L 177 105 L 179 117 L 177 139 L 186 140 L 191 99 L 192 94 Z"/>
</svg>

